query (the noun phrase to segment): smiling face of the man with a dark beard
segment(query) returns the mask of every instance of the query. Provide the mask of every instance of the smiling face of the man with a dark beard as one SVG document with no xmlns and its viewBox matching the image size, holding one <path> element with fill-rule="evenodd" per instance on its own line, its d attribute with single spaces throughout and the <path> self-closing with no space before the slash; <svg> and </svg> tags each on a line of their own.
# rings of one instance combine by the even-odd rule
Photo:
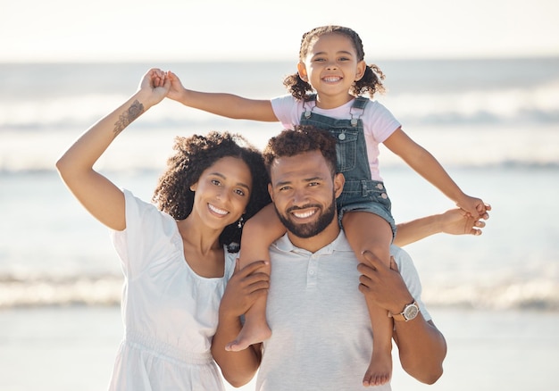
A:
<svg viewBox="0 0 559 391">
<path fill-rule="evenodd" d="M 314 237 L 333 221 L 337 227 L 336 197 L 342 187 L 343 176 L 332 179 L 319 151 L 280 157 L 271 165 L 271 199 L 281 222 L 296 237 Z"/>
</svg>

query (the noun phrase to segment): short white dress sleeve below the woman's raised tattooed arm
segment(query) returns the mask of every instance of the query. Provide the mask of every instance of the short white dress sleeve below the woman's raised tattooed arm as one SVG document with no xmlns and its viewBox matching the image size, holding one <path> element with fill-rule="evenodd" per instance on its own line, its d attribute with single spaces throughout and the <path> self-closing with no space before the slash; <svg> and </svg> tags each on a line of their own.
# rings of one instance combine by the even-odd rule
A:
<svg viewBox="0 0 559 391">
<path fill-rule="evenodd" d="M 121 259 L 124 275 L 134 279 L 160 258 L 170 243 L 176 223 L 171 216 L 160 212 L 154 204 L 146 203 L 123 190 L 126 204 L 126 229 L 113 230 L 113 245 Z"/>
</svg>

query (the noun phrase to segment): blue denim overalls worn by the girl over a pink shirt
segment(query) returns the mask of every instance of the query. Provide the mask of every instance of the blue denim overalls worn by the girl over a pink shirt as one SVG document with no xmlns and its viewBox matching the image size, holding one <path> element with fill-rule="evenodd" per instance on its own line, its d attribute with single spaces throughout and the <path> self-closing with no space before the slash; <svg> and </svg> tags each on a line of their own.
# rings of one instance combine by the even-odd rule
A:
<svg viewBox="0 0 559 391">
<path fill-rule="evenodd" d="M 384 184 L 371 180 L 363 120 L 361 119 L 369 99 L 363 96 L 355 98 L 354 104 L 349 110 L 351 118 L 346 120 L 336 120 L 313 112 L 316 96 L 311 96 L 311 99 L 304 104 L 305 112 L 301 114 L 300 124 L 328 130 L 338 141 L 336 144 L 338 172 L 344 174 L 346 178 L 344 190 L 336 201 L 340 226 L 344 212 L 371 212 L 388 221 L 394 237 L 396 224 L 390 212 L 390 199 Z"/>
</svg>

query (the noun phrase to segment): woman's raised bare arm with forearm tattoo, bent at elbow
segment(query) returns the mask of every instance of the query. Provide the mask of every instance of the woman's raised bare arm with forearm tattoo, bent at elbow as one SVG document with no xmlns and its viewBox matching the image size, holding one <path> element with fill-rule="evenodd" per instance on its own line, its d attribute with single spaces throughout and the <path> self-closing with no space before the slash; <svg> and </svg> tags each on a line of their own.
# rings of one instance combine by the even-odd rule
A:
<svg viewBox="0 0 559 391">
<path fill-rule="evenodd" d="M 163 71 L 147 71 L 138 91 L 89 128 L 56 162 L 56 169 L 79 203 L 111 229 L 126 228 L 124 195 L 113 182 L 96 172 L 93 165 L 122 130 L 163 100 L 170 85 Z"/>
</svg>

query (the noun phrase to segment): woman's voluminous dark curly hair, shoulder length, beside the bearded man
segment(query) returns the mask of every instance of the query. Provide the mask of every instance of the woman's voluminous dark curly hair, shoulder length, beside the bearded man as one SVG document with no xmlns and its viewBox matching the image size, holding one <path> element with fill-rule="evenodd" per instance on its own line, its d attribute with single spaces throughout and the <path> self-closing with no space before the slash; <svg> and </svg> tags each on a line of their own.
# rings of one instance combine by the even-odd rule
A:
<svg viewBox="0 0 559 391">
<path fill-rule="evenodd" d="M 186 219 L 192 212 L 194 192 L 190 187 L 200 179 L 202 172 L 223 157 L 241 159 L 251 171 L 253 187 L 243 220 L 270 204 L 263 156 L 244 137 L 216 131 L 206 136 L 176 137 L 173 150 L 175 153 L 167 160 L 167 170 L 159 178 L 152 201 L 175 220 Z M 230 251 L 238 251 L 241 232 L 237 222 L 230 224 L 221 232 L 220 244 L 228 245 Z"/>
</svg>

